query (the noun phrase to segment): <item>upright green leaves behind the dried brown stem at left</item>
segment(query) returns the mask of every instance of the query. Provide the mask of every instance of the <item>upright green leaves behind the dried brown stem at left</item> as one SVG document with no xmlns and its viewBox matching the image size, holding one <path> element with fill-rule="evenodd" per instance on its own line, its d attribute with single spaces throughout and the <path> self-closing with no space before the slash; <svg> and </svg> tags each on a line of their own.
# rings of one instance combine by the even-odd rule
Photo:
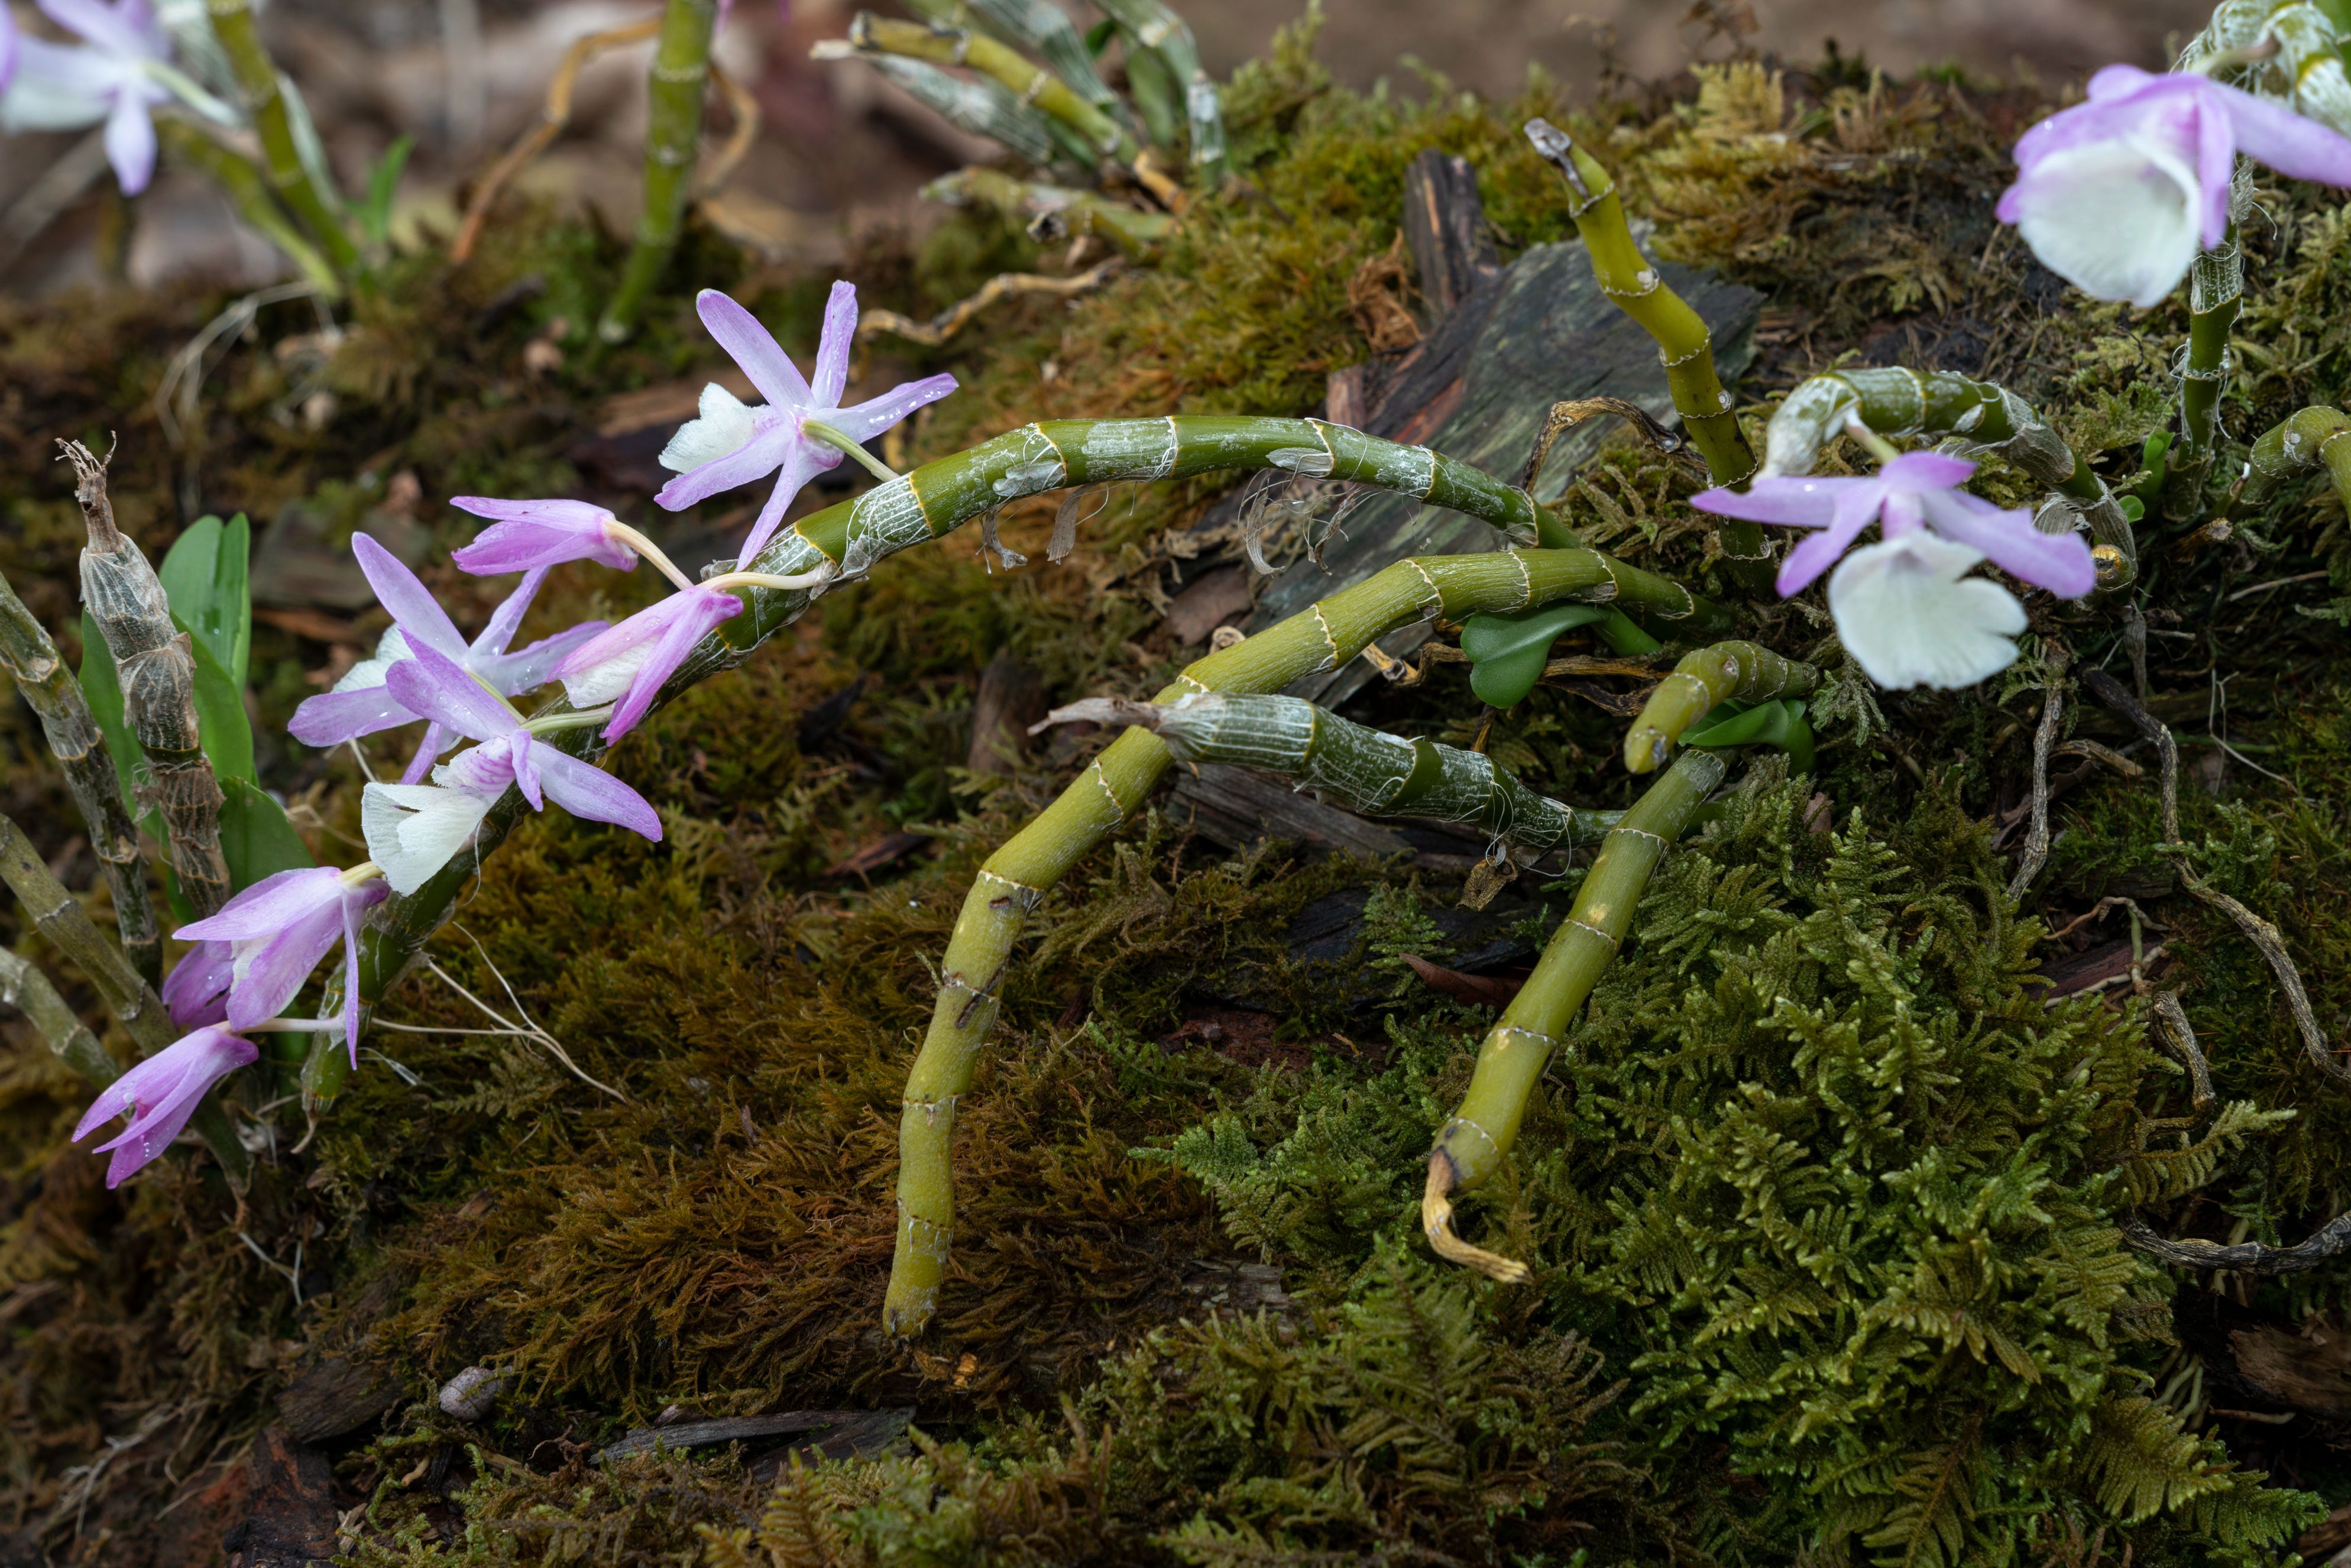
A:
<svg viewBox="0 0 2351 1568">
<path fill-rule="evenodd" d="M 155 571 L 172 604 L 172 623 L 188 632 L 188 654 L 195 661 L 195 722 L 223 797 L 221 858 L 228 863 L 230 886 L 240 893 L 263 877 L 313 865 L 284 806 L 268 797 L 254 766 L 254 726 L 245 715 L 254 644 L 249 562 L 252 527 L 242 515 L 226 524 L 219 517 L 202 517 L 179 536 Z M 141 748 L 122 712 L 122 677 L 87 611 L 80 682 L 115 757 L 122 799 L 136 809 Z M 155 811 L 143 811 L 139 825 L 162 842 L 165 827 Z M 169 860 L 165 860 L 165 891 L 181 922 L 195 919 L 195 910 L 179 898 Z"/>
</svg>

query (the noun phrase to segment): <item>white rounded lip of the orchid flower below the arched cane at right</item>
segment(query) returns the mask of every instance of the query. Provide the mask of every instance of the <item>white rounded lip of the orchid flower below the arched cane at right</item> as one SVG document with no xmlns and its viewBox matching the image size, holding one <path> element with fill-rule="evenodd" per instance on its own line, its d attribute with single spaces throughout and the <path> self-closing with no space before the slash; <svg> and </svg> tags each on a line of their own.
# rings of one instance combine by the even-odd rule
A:
<svg viewBox="0 0 2351 1568">
<path fill-rule="evenodd" d="M 1987 578 L 1984 557 L 1933 534 L 1855 550 L 1829 578 L 1836 635 L 1888 691 L 1972 686 L 2017 661 L 2024 607 Z"/>
</svg>

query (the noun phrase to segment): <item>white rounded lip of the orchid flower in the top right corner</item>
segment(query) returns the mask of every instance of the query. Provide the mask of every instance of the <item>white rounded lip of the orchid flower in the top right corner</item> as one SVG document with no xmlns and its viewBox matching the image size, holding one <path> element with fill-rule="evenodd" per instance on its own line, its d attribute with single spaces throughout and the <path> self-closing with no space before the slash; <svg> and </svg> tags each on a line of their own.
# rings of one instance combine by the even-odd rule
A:
<svg viewBox="0 0 2351 1568">
<path fill-rule="evenodd" d="M 2196 169 L 2154 136 L 2050 153 L 2020 181 L 2017 233 L 2041 266 L 2097 299 L 2146 306 L 2203 247 Z"/>
</svg>

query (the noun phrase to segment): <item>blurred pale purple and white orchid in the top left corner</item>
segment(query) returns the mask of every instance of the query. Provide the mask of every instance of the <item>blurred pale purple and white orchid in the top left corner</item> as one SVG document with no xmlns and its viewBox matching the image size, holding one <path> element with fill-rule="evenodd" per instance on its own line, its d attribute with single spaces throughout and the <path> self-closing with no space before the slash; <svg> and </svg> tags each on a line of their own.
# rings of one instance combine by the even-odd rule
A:
<svg viewBox="0 0 2351 1568">
<path fill-rule="evenodd" d="M 82 38 L 54 45 L 7 31 L 14 78 L 0 96 L 0 127 L 14 132 L 73 132 L 106 125 L 106 162 L 115 167 L 122 195 L 139 195 L 155 179 L 153 110 L 174 96 L 165 68 L 172 38 L 155 21 L 148 0 L 40 0 L 49 21 Z M 176 78 L 176 73 L 172 73 Z M 188 96 L 193 82 L 183 82 Z M 197 89 L 197 96 L 205 96 Z M 205 108 L 219 108 L 205 101 Z M 226 113 L 226 110 L 223 110 Z"/>
</svg>

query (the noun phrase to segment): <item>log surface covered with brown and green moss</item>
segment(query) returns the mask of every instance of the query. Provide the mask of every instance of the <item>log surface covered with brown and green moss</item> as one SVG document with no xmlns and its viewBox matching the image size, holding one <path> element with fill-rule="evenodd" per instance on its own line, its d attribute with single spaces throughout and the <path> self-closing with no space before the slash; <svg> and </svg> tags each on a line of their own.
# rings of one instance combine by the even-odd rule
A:
<svg viewBox="0 0 2351 1568">
<path fill-rule="evenodd" d="M 1754 310 L 1733 388 L 1749 440 L 1820 369 L 1911 362 L 2010 386 L 2128 489 L 2170 416 L 2186 310 L 2085 306 L 1996 233 L 2008 146 L 2045 101 L 1841 71 L 1709 68 L 1683 101 L 1578 115 L 1547 94 L 1352 96 L 1291 35 L 1225 94 L 1232 167 L 1262 200 L 1201 193 L 1154 266 L 870 367 L 875 383 L 964 378 L 900 468 L 1030 421 L 1314 411 L 1333 369 L 1373 362 L 1371 329 L 1396 320 L 1380 296 L 1411 315 L 1392 254 L 1429 150 L 1476 172 L 1512 268 L 1495 301 L 1545 299 L 1509 294 L 1514 277 L 1589 284 L 1559 181 L 1519 134 L 1542 113 L 1603 150 L 1627 209 L 1655 221 L 1643 247 L 1690 268 L 1676 289 L 1716 301 L 1726 341 Z M 2297 186 L 2264 207 L 2238 324 L 2264 355 L 2231 381 L 2224 449 L 2351 395 L 2335 327 L 2351 223 Z M 966 212 L 917 249 L 870 244 L 853 275 L 868 303 L 922 317 L 1041 263 L 1013 223 Z M 644 409 L 679 388 L 691 407 L 717 362 L 684 296 L 656 296 L 625 346 L 590 341 L 623 266 L 611 237 L 515 209 L 465 268 L 395 259 L 331 360 L 275 350 L 313 331 L 308 306 L 266 308 L 183 451 L 148 400 L 221 296 L 0 303 L 0 571 L 78 658 L 82 522 L 56 437 L 120 430 L 115 505 L 150 557 L 183 489 L 249 512 L 256 578 L 280 585 L 254 630 L 259 766 L 322 856 L 355 858 L 357 766 L 282 741 L 381 630 L 296 588 L 334 576 L 348 531 L 423 562 L 473 630 L 505 585 L 447 569 L 468 536 L 449 494 L 604 496 L 689 569 L 745 527 L 738 496 L 677 520 L 649 505 L 644 433 L 682 414 Z M 799 355 L 830 282 L 755 277 L 694 226 L 670 275 L 741 289 Z M 1634 331 L 1622 362 L 1639 362 L 1636 329 L 1592 313 Z M 569 336 L 548 336 L 557 320 Z M 1462 409 L 1486 397 L 1479 374 Z M 334 409 L 313 428 L 317 393 Z M 1526 440 L 1495 433 L 1531 437 L 1575 393 L 1476 402 L 1413 440 L 1512 477 Z M 2351 1274 L 2182 1284 L 2118 1218 L 2278 1246 L 2351 1201 L 2351 1100 L 2302 1056 L 2264 957 L 2182 879 L 2273 922 L 2316 1016 L 2351 1018 L 2351 538 L 2330 475 L 2283 477 L 2229 538 L 2144 524 L 2149 708 L 2184 757 L 2189 865 L 2158 851 L 2137 731 L 2067 703 L 2050 858 L 2015 907 L 2048 651 L 2125 679 L 2121 623 L 2034 602 L 2008 677 L 1871 698 L 1801 604 L 1726 592 L 1686 463 L 1625 430 L 1594 430 L 1575 463 L 1554 458 L 1545 498 L 1582 545 L 1733 604 L 1737 625 L 1707 642 L 1822 670 L 1820 759 L 1794 783 L 1749 759 L 1662 858 L 1509 1159 L 1460 1199 L 1533 1284 L 1432 1260 L 1420 1194 L 1476 1041 L 1585 867 L 1521 877 L 1507 931 L 1472 933 L 1451 907 L 1460 870 L 1429 856 L 1227 851 L 1183 827 L 1190 806 L 1150 806 L 1032 914 L 959 1110 L 938 1314 L 910 1342 L 879 1333 L 936 954 L 976 867 L 1105 743 L 1006 741 L 1006 771 L 969 771 L 976 682 L 1009 651 L 1051 701 L 1147 696 L 1204 654 L 1168 602 L 1246 574 L 1211 512 L 1218 477 L 1117 494 L 1058 567 L 1056 498 L 1018 501 L 999 527 L 1034 564 L 990 571 L 978 538 L 905 550 L 616 748 L 663 813 L 661 846 L 524 820 L 315 1131 L 292 1065 L 249 1074 L 242 1194 L 195 1150 L 106 1192 L 103 1159 L 66 1145 L 80 1077 L 0 1020 L 7 1549 L 143 1568 L 212 1561 L 235 1528 L 249 1559 L 277 1542 L 369 1568 L 2088 1568 L 2125 1552 L 2283 1568 L 2351 1500 L 2323 1436 L 2339 1413 L 2295 1403 L 2309 1368 L 2278 1371 L 2297 1345 L 2339 1342 Z M 842 482 L 863 484 L 849 465 Z M 1977 489 L 2038 494 L 1998 458 Z M 1441 550 L 1427 531 L 1404 543 L 1425 524 L 1366 505 L 1333 564 Z M 1314 597 L 1335 588 L 1291 571 Z M 562 569 L 524 637 L 647 592 Z M 1201 625 L 1246 614 L 1244 592 Z M 1582 637 L 1483 745 L 1528 788 L 1625 809 L 1643 783 L 1622 769 L 1625 719 L 1693 644 L 1641 665 Z M 1366 684 L 1347 717 L 1458 748 L 1481 731 L 1446 663 Z M 383 741 L 379 771 L 404 743 Z M 110 926 L 21 703 L 0 748 L 9 816 Z M 7 922 L 7 945 L 129 1060 L 85 978 Z M 541 1039 L 465 1032 L 491 1025 L 451 983 L 524 1009 L 625 1100 Z M 2177 994 L 2210 1105 L 2170 1025 L 2151 1032 L 2154 992 Z M 465 1368 L 496 1394 L 456 1415 L 437 1394 Z M 665 1429 L 670 1406 L 689 1432 L 755 1436 L 595 1460 Z M 879 1455 L 828 1446 L 905 1410 Z"/>
</svg>

